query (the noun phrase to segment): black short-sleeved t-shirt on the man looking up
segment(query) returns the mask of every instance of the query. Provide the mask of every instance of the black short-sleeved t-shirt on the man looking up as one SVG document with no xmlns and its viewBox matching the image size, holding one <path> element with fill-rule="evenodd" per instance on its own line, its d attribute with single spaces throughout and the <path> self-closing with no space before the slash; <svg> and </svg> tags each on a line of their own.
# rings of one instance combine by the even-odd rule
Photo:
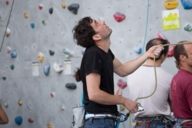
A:
<svg viewBox="0 0 192 128">
<path fill-rule="evenodd" d="M 101 76 L 100 89 L 113 95 L 114 94 L 113 60 L 114 55 L 111 52 L 111 50 L 109 50 L 106 53 L 97 46 L 87 48 L 84 52 L 80 71 L 84 91 L 83 103 L 85 105 L 85 110 L 88 113 L 117 114 L 116 105 L 103 105 L 89 100 L 85 79 L 86 75 L 90 73 L 98 73 Z"/>
</svg>

